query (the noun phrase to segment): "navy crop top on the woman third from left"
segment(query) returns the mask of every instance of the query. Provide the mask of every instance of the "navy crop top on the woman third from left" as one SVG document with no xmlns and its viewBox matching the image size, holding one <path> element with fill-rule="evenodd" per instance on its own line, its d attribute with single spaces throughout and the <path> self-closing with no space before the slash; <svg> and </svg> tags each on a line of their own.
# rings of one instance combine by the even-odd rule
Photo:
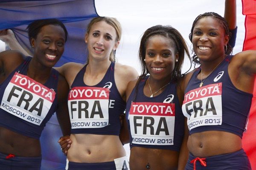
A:
<svg viewBox="0 0 256 170">
<path fill-rule="evenodd" d="M 184 116 L 176 84 L 170 83 L 158 96 L 147 97 L 143 88 L 148 76 L 131 92 L 126 104 L 130 147 L 179 151 L 184 135 Z"/>
</svg>

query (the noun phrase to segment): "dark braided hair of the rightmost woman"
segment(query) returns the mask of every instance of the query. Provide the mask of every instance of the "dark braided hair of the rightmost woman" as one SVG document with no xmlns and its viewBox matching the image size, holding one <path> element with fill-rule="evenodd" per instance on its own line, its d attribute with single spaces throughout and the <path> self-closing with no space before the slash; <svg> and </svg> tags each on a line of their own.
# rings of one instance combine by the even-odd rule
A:
<svg viewBox="0 0 256 170">
<path fill-rule="evenodd" d="M 191 28 L 191 31 L 190 31 L 190 34 L 189 34 L 189 40 L 191 42 L 192 42 L 192 37 L 193 37 L 193 31 L 194 31 L 195 24 L 198 22 L 198 20 L 200 20 L 201 18 L 204 18 L 204 17 L 213 17 L 216 20 L 218 20 L 219 23 L 221 23 L 221 26 L 224 28 L 225 34 L 229 35 L 229 37 L 231 36 L 230 29 L 228 28 L 227 21 L 225 20 L 224 17 L 221 17 L 219 14 L 217 14 L 215 12 L 205 12 L 204 14 L 198 15 L 195 18 L 195 20 L 194 20 L 194 22 L 192 24 L 192 28 Z M 231 52 L 232 52 L 232 47 L 228 43 L 227 44 L 227 48 L 225 48 L 225 54 L 229 55 L 229 54 L 231 54 Z M 193 52 L 192 62 L 194 62 L 195 64 L 200 64 L 200 61 L 199 61 L 197 55 L 195 54 L 195 52 Z"/>
</svg>

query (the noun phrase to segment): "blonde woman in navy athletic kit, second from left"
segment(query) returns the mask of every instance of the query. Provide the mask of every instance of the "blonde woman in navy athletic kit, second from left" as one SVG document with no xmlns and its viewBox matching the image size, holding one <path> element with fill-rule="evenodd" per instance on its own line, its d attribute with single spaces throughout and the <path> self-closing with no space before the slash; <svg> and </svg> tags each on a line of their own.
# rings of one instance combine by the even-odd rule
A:
<svg viewBox="0 0 256 170">
<path fill-rule="evenodd" d="M 68 170 L 129 168 L 119 139 L 119 116 L 125 110 L 127 84 L 137 77 L 137 71 L 115 62 L 120 38 L 121 26 L 115 18 L 93 18 L 85 34 L 87 63 L 58 68 L 70 85 L 71 136 L 59 140 L 67 154 Z"/>
</svg>

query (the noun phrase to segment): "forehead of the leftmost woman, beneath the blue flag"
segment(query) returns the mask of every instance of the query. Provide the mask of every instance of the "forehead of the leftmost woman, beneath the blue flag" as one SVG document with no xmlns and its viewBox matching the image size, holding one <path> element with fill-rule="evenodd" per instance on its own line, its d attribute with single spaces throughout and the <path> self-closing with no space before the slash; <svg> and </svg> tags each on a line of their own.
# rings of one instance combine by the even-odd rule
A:
<svg viewBox="0 0 256 170">
<path fill-rule="evenodd" d="M 65 32 L 61 26 L 46 25 L 40 29 L 37 37 L 58 37 L 65 40 Z"/>
</svg>

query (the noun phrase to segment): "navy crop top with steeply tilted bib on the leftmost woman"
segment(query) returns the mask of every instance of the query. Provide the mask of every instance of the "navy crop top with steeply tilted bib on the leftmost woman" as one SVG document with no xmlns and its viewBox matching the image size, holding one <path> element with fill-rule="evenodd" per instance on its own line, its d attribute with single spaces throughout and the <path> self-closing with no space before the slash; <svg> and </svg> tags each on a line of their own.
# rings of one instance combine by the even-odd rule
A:
<svg viewBox="0 0 256 170">
<path fill-rule="evenodd" d="M 42 85 L 26 76 L 32 57 L 26 57 L 0 85 L 0 126 L 39 139 L 57 108 L 58 71 L 52 68 Z"/>
</svg>

